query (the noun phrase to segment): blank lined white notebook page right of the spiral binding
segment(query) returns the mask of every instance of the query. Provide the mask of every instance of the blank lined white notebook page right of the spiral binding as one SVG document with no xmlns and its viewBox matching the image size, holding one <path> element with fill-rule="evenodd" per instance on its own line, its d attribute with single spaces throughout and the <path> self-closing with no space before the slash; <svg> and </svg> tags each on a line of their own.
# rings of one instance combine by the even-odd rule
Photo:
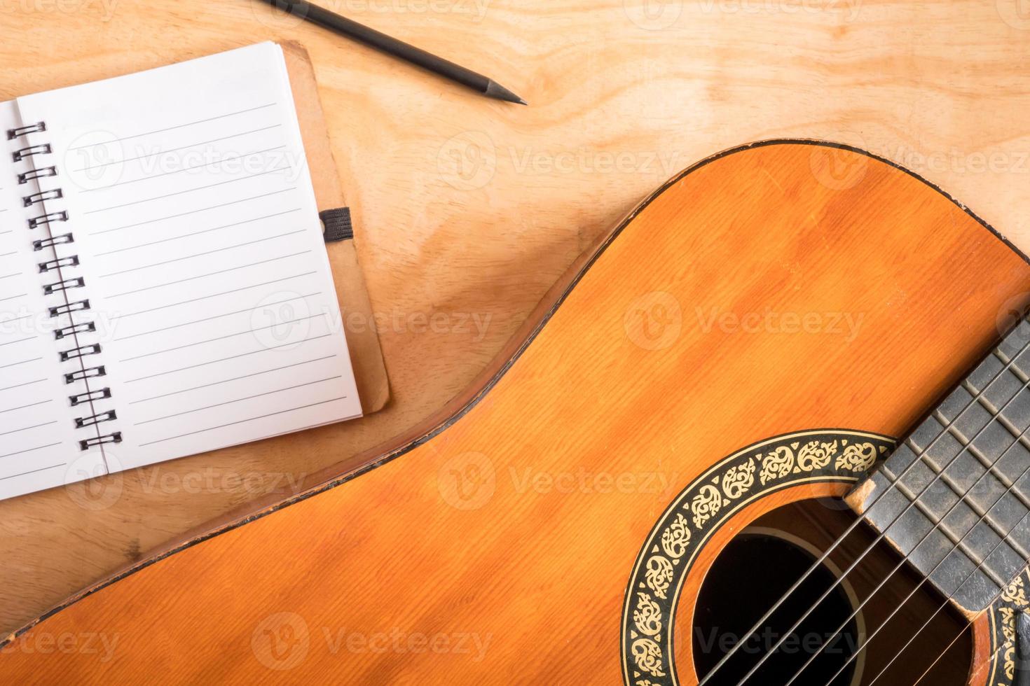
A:
<svg viewBox="0 0 1030 686">
<path fill-rule="evenodd" d="M 360 414 L 278 45 L 19 107 L 61 151 L 121 468 Z"/>
</svg>

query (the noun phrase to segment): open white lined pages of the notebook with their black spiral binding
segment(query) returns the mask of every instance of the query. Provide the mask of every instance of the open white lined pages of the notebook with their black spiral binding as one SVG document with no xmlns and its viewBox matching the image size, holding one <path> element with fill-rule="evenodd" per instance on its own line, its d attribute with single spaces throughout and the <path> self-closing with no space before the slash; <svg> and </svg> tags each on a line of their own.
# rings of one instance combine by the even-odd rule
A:
<svg viewBox="0 0 1030 686">
<path fill-rule="evenodd" d="M 279 45 L 0 132 L 0 498 L 362 414 Z"/>
</svg>

